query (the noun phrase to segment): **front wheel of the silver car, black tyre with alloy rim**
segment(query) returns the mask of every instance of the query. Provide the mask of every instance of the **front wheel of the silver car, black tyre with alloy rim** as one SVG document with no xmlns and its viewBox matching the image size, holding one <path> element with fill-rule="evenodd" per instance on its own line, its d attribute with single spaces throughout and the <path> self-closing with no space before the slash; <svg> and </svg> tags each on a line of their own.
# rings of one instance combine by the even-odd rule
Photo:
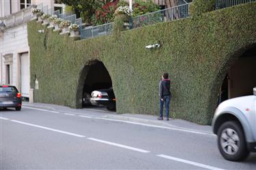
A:
<svg viewBox="0 0 256 170">
<path fill-rule="evenodd" d="M 243 160 L 248 156 L 244 133 L 238 122 L 225 122 L 218 129 L 218 150 L 231 161 Z"/>
</svg>

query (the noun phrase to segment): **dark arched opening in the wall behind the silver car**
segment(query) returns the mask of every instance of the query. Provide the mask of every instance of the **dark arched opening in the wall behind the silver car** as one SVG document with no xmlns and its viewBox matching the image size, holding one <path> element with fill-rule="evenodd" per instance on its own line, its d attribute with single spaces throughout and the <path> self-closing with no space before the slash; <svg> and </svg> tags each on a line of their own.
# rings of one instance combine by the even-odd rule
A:
<svg viewBox="0 0 256 170">
<path fill-rule="evenodd" d="M 256 86 L 256 46 L 246 50 L 229 68 L 221 92 L 218 96 L 218 104 L 227 99 L 253 95 Z"/>
</svg>

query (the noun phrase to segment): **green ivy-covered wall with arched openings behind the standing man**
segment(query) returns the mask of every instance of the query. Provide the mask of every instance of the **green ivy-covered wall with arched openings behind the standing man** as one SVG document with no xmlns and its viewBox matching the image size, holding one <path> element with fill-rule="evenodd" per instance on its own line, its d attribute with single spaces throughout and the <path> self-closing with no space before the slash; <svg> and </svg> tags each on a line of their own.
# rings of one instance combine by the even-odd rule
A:
<svg viewBox="0 0 256 170">
<path fill-rule="evenodd" d="M 255 16 L 256 3 L 247 3 L 79 41 L 31 21 L 31 88 L 35 77 L 39 82 L 34 101 L 81 107 L 83 76 L 98 60 L 111 75 L 118 113 L 157 115 L 158 83 L 167 71 L 173 82 L 171 114 L 210 124 L 225 71 L 256 44 Z M 161 47 L 145 48 L 155 43 Z"/>
</svg>

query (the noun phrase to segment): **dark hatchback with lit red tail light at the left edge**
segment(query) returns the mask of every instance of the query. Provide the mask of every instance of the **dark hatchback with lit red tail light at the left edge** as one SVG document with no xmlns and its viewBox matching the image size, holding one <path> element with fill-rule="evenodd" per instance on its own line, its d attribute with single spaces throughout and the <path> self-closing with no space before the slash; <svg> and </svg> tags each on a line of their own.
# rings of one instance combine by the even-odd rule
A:
<svg viewBox="0 0 256 170">
<path fill-rule="evenodd" d="M 14 107 L 16 111 L 21 109 L 21 94 L 12 85 L 0 85 L 0 108 Z"/>
</svg>

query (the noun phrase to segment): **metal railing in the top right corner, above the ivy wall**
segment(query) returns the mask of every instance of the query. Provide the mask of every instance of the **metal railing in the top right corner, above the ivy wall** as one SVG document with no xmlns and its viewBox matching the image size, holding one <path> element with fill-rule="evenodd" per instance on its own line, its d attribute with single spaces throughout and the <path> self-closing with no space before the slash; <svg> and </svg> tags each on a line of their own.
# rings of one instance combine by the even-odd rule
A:
<svg viewBox="0 0 256 170">
<path fill-rule="evenodd" d="M 255 2 L 256 0 L 216 0 L 216 10 L 239 5 L 242 3 Z"/>
</svg>

